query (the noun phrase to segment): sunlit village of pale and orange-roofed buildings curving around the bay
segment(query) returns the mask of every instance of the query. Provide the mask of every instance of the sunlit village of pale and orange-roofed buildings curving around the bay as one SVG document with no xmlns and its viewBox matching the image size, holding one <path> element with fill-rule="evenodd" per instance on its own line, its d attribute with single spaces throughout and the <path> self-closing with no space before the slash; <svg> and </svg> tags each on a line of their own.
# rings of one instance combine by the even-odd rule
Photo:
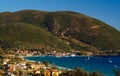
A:
<svg viewBox="0 0 120 76">
<path fill-rule="evenodd" d="M 28 50 L 0 50 L 0 75 L 2 76 L 59 76 L 65 68 L 58 69 L 55 65 L 50 65 L 47 61 L 34 62 L 24 59 L 26 56 L 76 56 L 76 53 L 61 52 L 41 52 Z"/>
</svg>

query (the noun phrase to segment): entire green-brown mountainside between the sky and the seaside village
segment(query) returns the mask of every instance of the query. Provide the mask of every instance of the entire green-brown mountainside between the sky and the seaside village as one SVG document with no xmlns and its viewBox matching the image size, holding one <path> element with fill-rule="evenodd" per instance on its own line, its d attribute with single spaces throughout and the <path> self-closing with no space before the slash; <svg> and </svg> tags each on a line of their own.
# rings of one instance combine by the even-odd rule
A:
<svg viewBox="0 0 120 76">
<path fill-rule="evenodd" d="M 1 49 L 119 51 L 120 31 L 71 11 L 21 10 L 0 13 Z"/>
</svg>

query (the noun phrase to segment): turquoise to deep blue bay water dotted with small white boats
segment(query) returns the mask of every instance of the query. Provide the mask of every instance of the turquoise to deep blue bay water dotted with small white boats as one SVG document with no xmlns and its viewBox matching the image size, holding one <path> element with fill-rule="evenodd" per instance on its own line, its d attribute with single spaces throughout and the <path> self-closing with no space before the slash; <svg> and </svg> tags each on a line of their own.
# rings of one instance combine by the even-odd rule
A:
<svg viewBox="0 0 120 76">
<path fill-rule="evenodd" d="M 39 56 L 39 57 L 25 57 L 25 59 L 33 61 L 46 60 L 51 64 L 55 64 L 61 67 L 74 69 L 75 67 L 81 67 L 86 71 L 93 72 L 98 71 L 105 76 L 115 76 L 113 69 L 120 69 L 120 56 L 104 56 L 104 57 L 55 57 L 55 56 Z"/>
</svg>

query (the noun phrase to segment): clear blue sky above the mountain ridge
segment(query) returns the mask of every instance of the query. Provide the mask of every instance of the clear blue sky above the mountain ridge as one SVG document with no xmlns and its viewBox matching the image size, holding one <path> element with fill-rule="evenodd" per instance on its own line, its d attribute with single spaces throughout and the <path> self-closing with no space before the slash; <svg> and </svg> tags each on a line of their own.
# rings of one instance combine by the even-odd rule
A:
<svg viewBox="0 0 120 76">
<path fill-rule="evenodd" d="M 120 0 L 0 0 L 0 12 L 26 9 L 79 12 L 120 31 Z"/>
</svg>

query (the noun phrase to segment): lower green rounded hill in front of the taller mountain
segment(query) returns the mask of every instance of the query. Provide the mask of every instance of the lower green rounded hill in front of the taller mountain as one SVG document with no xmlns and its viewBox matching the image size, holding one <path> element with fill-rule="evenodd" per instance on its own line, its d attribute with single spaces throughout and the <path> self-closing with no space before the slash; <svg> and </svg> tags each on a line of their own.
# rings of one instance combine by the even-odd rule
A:
<svg viewBox="0 0 120 76">
<path fill-rule="evenodd" d="M 2 48 L 18 48 L 23 50 L 70 50 L 68 45 L 47 30 L 19 22 L 0 25 L 0 46 Z"/>
</svg>

